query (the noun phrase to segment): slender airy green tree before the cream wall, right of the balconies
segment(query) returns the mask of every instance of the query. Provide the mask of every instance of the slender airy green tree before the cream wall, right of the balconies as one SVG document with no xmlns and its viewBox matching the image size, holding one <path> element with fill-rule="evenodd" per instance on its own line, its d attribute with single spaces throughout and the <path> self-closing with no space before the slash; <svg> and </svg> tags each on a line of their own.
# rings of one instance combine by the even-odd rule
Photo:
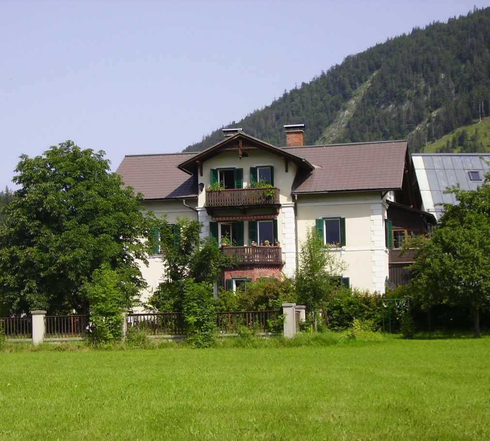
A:
<svg viewBox="0 0 490 441">
<path fill-rule="evenodd" d="M 317 317 L 321 304 L 338 287 L 338 280 L 346 268 L 345 262 L 331 253 L 330 247 L 323 243 L 323 237 L 316 229 L 308 230 L 306 240 L 301 242 L 295 277 L 298 302 Z"/>
</svg>

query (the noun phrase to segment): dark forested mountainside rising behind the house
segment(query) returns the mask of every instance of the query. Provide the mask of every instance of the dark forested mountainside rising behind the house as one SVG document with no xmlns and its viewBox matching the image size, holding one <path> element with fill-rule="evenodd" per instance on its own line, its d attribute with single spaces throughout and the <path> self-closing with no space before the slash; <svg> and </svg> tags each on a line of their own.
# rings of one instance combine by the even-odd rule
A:
<svg viewBox="0 0 490 441">
<path fill-rule="evenodd" d="M 283 125 L 304 123 L 306 144 L 409 139 L 410 150 L 418 152 L 485 116 L 490 116 L 490 8 L 349 55 L 224 127 L 242 127 L 280 146 L 286 144 Z M 185 151 L 221 139 L 217 129 Z"/>
</svg>

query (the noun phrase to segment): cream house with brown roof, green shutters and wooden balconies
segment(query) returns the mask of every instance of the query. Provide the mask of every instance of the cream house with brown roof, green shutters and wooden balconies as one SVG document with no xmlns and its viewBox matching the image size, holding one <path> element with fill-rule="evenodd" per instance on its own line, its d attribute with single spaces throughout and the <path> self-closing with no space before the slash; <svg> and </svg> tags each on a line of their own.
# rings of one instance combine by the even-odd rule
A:
<svg viewBox="0 0 490 441">
<path fill-rule="evenodd" d="M 412 209 L 407 142 L 304 146 L 304 125 L 285 130 L 286 147 L 223 129 L 224 139 L 207 150 L 129 155 L 117 173 L 144 195 L 145 210 L 166 213 L 170 223 L 187 216 L 202 223 L 203 237 L 231 241 L 222 252 L 237 265 L 223 274 L 226 289 L 247 279 L 293 276 L 306 232 L 316 228 L 347 264 L 339 275 L 344 284 L 383 293 L 392 243 L 388 213 L 423 217 Z M 266 241 L 269 246 L 260 246 Z M 161 255 L 151 256 L 142 273 L 156 287 Z"/>
</svg>

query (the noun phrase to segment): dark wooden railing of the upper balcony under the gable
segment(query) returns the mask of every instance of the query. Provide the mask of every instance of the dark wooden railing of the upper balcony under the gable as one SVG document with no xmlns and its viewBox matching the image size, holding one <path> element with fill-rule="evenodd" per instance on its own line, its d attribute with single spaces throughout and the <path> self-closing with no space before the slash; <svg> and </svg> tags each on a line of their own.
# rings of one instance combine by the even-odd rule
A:
<svg viewBox="0 0 490 441">
<path fill-rule="evenodd" d="M 270 193 L 273 190 L 273 194 Z M 260 207 L 279 204 L 279 188 L 206 190 L 206 207 Z"/>
</svg>

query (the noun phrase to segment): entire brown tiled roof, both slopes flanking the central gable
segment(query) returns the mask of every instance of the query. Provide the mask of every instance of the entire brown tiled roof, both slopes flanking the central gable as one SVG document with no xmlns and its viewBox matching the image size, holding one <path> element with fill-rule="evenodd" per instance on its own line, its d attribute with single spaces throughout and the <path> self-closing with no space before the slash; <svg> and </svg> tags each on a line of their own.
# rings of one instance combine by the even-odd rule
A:
<svg viewBox="0 0 490 441">
<path fill-rule="evenodd" d="M 313 164 L 312 172 L 298 173 L 294 193 L 390 190 L 402 186 L 407 141 L 313 145 L 277 148 Z M 116 170 L 125 185 L 145 199 L 197 197 L 193 176 L 177 168 L 196 153 L 129 155 Z"/>
</svg>

